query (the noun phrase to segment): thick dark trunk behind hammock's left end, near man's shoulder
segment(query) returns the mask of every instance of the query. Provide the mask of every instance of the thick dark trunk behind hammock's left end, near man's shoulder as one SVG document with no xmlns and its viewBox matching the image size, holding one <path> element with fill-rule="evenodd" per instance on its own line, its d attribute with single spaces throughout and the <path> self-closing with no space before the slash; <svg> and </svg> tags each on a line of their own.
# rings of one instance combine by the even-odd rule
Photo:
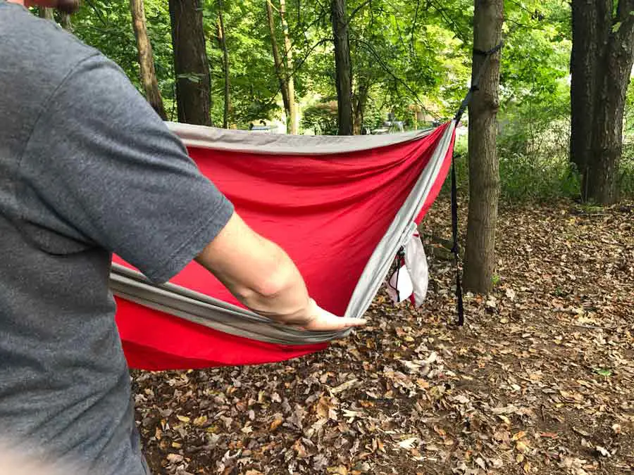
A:
<svg viewBox="0 0 634 475">
<path fill-rule="evenodd" d="M 179 122 L 211 125 L 211 78 L 201 0 L 169 0 Z"/>
</svg>

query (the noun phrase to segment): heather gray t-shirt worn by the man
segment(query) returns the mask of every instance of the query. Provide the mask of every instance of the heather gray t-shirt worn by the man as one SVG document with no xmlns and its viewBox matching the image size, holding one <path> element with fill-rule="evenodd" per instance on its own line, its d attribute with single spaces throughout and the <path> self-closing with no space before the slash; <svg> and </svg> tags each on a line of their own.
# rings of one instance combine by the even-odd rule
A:
<svg viewBox="0 0 634 475">
<path fill-rule="evenodd" d="M 0 439 L 144 474 L 111 252 L 166 281 L 232 205 L 123 72 L 0 0 Z"/>
</svg>

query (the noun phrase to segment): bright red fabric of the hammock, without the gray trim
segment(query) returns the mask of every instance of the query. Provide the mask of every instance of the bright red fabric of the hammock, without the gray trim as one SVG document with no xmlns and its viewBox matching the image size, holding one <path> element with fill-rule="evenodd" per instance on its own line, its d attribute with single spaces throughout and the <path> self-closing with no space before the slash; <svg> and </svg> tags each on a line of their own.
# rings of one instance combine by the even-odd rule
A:
<svg viewBox="0 0 634 475">
<path fill-rule="evenodd" d="M 422 139 L 350 153 L 280 156 L 194 147 L 188 147 L 188 152 L 244 220 L 289 253 L 304 275 L 311 296 L 323 308 L 343 315 L 368 258 L 428 165 L 446 127 Z M 454 138 L 417 222 L 445 181 Z M 196 263 L 171 282 L 239 305 Z M 128 364 L 133 368 L 261 364 L 327 346 L 263 343 L 209 329 L 124 298 L 116 300 L 116 321 Z"/>
</svg>

